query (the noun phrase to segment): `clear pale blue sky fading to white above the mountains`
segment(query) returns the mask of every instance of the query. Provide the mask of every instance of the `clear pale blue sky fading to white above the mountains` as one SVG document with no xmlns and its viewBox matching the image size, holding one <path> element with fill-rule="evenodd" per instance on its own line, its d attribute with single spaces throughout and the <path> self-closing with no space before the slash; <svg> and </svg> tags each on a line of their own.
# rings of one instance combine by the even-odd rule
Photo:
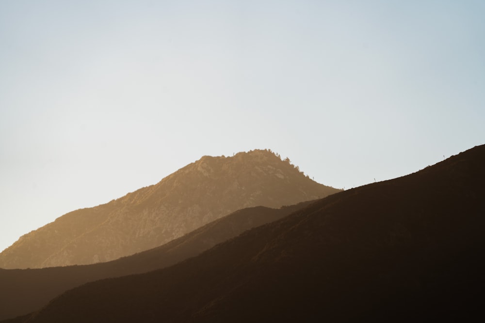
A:
<svg viewBox="0 0 485 323">
<path fill-rule="evenodd" d="M 0 1 L 0 250 L 203 155 L 349 189 L 485 143 L 485 1 Z"/>
</svg>

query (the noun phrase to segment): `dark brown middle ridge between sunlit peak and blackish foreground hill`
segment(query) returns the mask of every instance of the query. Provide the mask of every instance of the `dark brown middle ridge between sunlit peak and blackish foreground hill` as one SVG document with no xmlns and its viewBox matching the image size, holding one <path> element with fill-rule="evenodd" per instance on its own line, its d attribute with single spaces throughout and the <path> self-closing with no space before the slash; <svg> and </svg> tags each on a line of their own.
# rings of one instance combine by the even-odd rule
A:
<svg viewBox="0 0 485 323">
<path fill-rule="evenodd" d="M 307 201 L 280 209 L 258 206 L 238 210 L 163 246 L 114 261 L 41 269 L 0 269 L 0 320 L 38 310 L 62 292 L 89 281 L 144 273 L 173 265 L 310 203 Z"/>
</svg>

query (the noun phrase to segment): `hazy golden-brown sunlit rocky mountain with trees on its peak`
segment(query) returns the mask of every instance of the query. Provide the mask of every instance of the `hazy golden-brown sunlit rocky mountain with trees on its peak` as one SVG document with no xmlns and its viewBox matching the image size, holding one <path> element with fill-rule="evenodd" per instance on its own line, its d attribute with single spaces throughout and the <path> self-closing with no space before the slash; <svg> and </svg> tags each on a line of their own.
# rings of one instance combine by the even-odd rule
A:
<svg viewBox="0 0 485 323">
<path fill-rule="evenodd" d="M 0 253 L 0 268 L 111 261 L 161 246 L 242 208 L 278 208 L 338 191 L 268 150 L 204 156 L 156 185 L 70 212 L 23 235 Z"/>
</svg>

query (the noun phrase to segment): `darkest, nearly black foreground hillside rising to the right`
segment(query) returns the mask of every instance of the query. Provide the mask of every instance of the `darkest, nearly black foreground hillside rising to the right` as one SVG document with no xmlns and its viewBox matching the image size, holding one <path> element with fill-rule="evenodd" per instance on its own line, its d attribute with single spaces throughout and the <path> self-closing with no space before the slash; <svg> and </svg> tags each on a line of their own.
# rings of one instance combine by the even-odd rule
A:
<svg viewBox="0 0 485 323">
<path fill-rule="evenodd" d="M 65 292 L 25 322 L 483 318 L 485 146 L 319 200 L 201 255 Z"/>
</svg>

